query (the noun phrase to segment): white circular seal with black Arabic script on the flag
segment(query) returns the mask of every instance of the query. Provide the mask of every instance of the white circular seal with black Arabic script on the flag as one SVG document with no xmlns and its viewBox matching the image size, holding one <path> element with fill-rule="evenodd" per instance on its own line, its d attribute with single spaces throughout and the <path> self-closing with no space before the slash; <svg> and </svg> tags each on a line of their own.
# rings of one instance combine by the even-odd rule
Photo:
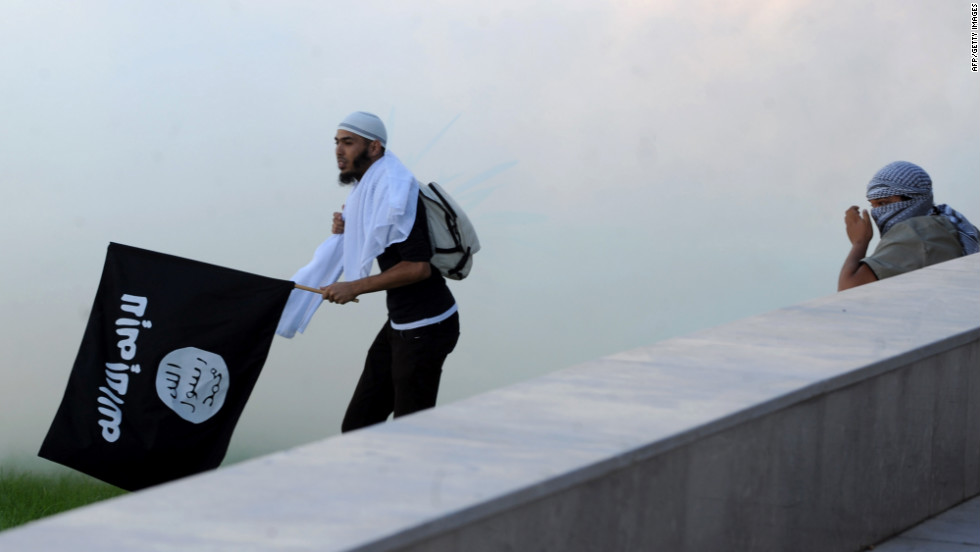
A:
<svg viewBox="0 0 980 552">
<path fill-rule="evenodd" d="M 220 355 L 185 347 L 163 357 L 157 395 L 178 416 L 199 424 L 214 416 L 228 394 L 228 366 Z"/>
</svg>

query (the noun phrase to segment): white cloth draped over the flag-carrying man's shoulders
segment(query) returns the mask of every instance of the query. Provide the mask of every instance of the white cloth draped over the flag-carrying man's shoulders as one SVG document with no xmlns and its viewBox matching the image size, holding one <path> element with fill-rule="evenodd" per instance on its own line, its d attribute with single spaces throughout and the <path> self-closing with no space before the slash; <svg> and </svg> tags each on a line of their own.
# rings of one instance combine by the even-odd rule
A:
<svg viewBox="0 0 980 552">
<path fill-rule="evenodd" d="M 348 281 L 371 273 L 374 259 L 393 243 L 405 241 L 415 224 L 419 185 L 412 173 L 390 152 L 372 164 L 354 185 L 344 205 L 344 233 L 326 239 L 313 260 L 299 269 L 292 281 L 310 287 Z M 323 297 L 293 290 L 279 319 L 276 333 L 291 338 L 303 333 Z"/>
</svg>

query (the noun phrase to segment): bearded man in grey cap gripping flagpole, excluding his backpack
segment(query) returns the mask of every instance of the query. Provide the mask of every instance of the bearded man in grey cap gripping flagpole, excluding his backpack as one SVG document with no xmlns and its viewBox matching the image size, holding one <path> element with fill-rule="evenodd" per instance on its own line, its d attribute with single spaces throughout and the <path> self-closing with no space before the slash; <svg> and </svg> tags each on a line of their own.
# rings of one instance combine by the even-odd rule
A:
<svg viewBox="0 0 980 552">
<path fill-rule="evenodd" d="M 456 300 L 430 264 L 418 181 L 387 151 L 387 140 L 384 123 L 371 113 L 354 112 L 340 123 L 334 140 L 339 180 L 352 190 L 343 213 L 334 213 L 334 236 L 293 277 L 319 286 L 331 303 L 387 294 L 388 319 L 368 350 L 345 432 L 435 406 L 443 362 L 459 339 Z M 375 260 L 381 272 L 371 275 Z M 341 272 L 344 281 L 338 281 Z M 280 335 L 302 331 L 316 310 L 302 293 L 293 292 Z"/>
</svg>

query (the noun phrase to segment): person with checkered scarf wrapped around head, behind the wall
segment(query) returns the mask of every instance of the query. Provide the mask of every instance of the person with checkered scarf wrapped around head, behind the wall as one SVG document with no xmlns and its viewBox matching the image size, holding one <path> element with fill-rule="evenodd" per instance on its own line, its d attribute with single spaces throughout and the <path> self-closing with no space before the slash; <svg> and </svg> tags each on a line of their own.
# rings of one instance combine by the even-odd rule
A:
<svg viewBox="0 0 980 552">
<path fill-rule="evenodd" d="M 932 180 L 914 163 L 895 161 L 868 183 L 871 214 L 852 206 L 844 213 L 851 251 L 837 291 L 910 272 L 980 251 L 977 228 L 948 205 L 934 205 Z M 866 256 L 873 231 L 881 240 Z"/>
</svg>

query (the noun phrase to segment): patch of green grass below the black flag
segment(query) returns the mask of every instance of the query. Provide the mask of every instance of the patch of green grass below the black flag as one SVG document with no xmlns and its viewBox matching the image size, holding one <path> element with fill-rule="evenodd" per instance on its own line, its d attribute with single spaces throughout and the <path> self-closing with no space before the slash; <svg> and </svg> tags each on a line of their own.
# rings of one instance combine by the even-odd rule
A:
<svg viewBox="0 0 980 552">
<path fill-rule="evenodd" d="M 0 531 L 125 493 L 75 472 L 37 474 L 0 468 Z"/>
</svg>

